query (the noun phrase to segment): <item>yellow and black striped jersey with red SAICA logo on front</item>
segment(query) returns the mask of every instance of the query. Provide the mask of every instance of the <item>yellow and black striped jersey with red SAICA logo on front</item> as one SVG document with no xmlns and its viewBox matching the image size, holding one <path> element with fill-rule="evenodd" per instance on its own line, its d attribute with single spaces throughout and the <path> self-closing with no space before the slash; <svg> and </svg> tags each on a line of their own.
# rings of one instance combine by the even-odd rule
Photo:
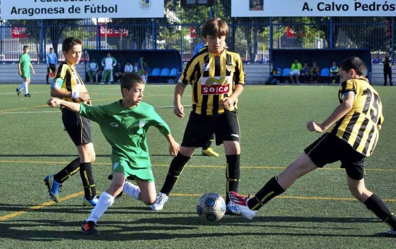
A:
<svg viewBox="0 0 396 249">
<path fill-rule="evenodd" d="M 224 112 L 221 101 L 231 96 L 237 84 L 245 86 L 241 56 L 229 49 L 215 55 L 205 46 L 187 63 L 179 83 L 193 87 L 194 112 L 201 115 L 221 114 Z M 238 100 L 229 110 L 237 109 L 237 103 Z"/>
</svg>

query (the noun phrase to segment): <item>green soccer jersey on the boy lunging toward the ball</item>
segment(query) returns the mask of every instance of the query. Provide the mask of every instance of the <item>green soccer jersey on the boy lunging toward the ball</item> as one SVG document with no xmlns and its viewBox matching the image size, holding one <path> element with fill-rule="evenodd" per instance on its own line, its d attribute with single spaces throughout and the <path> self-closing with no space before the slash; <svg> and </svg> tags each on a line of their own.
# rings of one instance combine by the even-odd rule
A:
<svg viewBox="0 0 396 249">
<path fill-rule="evenodd" d="M 151 168 L 146 138 L 148 127 L 155 126 L 161 134 L 170 134 L 168 125 L 154 107 L 141 102 L 134 108 L 126 108 L 122 100 L 108 105 L 80 105 L 80 115 L 97 122 L 111 145 L 112 163 L 126 160 L 134 168 Z"/>
</svg>

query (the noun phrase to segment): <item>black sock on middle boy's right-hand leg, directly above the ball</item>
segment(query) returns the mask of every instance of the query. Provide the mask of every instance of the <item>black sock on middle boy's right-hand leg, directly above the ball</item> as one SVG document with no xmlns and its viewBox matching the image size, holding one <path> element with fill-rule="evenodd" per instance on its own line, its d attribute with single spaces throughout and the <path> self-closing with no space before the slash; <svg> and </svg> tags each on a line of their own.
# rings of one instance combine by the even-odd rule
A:
<svg viewBox="0 0 396 249">
<path fill-rule="evenodd" d="M 226 155 L 227 166 L 226 166 L 226 203 L 230 202 L 228 193 L 230 191 L 238 192 L 239 177 L 241 175 L 240 169 L 240 158 L 241 155 Z"/>
</svg>

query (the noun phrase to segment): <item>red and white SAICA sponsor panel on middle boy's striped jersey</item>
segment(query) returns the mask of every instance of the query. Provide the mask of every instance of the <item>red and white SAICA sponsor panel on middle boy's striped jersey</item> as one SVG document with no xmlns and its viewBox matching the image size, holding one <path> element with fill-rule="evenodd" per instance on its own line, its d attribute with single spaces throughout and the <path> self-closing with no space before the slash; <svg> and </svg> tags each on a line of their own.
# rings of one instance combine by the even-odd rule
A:
<svg viewBox="0 0 396 249">
<path fill-rule="evenodd" d="M 201 94 L 219 95 L 227 94 L 230 91 L 230 76 L 202 77 Z"/>
</svg>

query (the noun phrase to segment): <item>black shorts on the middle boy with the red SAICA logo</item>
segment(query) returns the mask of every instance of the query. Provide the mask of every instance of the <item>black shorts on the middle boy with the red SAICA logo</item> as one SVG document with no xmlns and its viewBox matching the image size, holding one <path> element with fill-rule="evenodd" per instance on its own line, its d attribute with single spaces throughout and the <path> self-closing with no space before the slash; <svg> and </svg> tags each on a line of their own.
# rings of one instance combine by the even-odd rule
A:
<svg viewBox="0 0 396 249">
<path fill-rule="evenodd" d="M 205 147 L 212 133 L 216 136 L 216 145 L 221 145 L 223 141 L 239 142 L 238 112 L 226 111 L 215 116 L 203 116 L 191 112 L 182 146 Z"/>
</svg>

